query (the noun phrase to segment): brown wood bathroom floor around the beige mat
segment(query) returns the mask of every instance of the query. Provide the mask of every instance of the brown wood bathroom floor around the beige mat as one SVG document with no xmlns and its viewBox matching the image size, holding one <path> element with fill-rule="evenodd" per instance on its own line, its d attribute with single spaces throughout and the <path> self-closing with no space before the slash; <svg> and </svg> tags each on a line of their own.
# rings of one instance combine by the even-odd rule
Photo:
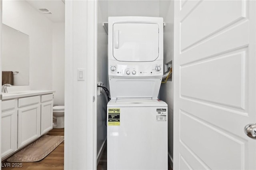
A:
<svg viewBox="0 0 256 170">
<path fill-rule="evenodd" d="M 64 128 L 54 128 L 48 132 L 48 135 L 64 136 Z M 64 141 L 57 146 L 50 154 L 38 162 L 17 162 L 22 163 L 22 167 L 3 167 L 4 164 L 12 162 L 3 162 L 2 170 L 63 170 L 64 169 Z"/>
</svg>

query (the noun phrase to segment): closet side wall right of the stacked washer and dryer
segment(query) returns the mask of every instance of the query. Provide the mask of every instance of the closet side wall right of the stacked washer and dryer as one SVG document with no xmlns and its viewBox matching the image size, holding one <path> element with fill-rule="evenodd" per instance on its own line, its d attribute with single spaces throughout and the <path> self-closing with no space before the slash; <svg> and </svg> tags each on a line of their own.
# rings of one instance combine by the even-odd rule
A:
<svg viewBox="0 0 256 170">
<path fill-rule="evenodd" d="M 164 64 L 173 61 L 174 2 L 160 1 L 160 17 L 164 18 Z M 173 64 L 172 64 L 173 65 Z M 173 69 L 172 69 L 173 70 Z M 168 104 L 168 154 L 173 158 L 173 81 L 161 84 L 160 99 Z"/>
</svg>

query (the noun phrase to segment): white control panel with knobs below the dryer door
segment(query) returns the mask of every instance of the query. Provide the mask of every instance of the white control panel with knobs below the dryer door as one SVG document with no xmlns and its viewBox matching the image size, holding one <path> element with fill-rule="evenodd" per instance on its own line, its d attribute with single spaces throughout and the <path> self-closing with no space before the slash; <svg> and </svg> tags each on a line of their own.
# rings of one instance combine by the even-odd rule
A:
<svg viewBox="0 0 256 170">
<path fill-rule="evenodd" d="M 109 61 L 109 78 L 136 79 L 137 78 L 162 78 L 162 60 L 154 62 L 118 62 Z"/>
</svg>

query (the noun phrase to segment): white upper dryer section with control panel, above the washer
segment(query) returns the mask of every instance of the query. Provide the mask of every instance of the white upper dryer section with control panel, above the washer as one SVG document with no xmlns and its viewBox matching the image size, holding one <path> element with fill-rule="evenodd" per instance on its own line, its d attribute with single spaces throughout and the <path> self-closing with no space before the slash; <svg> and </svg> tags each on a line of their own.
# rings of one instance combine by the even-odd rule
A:
<svg viewBox="0 0 256 170">
<path fill-rule="evenodd" d="M 111 98 L 157 98 L 163 72 L 163 18 L 109 17 Z"/>
</svg>

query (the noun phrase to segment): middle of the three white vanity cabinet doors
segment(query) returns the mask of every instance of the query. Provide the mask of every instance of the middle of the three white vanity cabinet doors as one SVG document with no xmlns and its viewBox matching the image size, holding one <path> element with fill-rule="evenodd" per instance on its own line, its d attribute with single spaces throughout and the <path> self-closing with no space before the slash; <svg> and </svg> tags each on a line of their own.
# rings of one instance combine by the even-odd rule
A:
<svg viewBox="0 0 256 170">
<path fill-rule="evenodd" d="M 40 105 L 18 109 L 18 148 L 40 136 Z"/>
</svg>

